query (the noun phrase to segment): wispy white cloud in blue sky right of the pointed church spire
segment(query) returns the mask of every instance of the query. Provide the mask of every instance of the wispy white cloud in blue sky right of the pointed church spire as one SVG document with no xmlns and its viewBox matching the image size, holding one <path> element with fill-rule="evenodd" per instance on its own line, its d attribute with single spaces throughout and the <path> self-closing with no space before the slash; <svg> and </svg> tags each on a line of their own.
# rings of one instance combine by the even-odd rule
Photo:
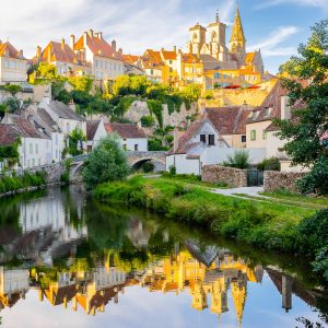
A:
<svg viewBox="0 0 328 328">
<path fill-rule="evenodd" d="M 268 38 L 248 48 L 249 50 L 261 49 L 265 57 L 291 56 L 296 54 L 296 48 L 290 46 L 283 47 L 282 44 L 298 32 L 300 28 L 296 26 L 280 26 L 273 31 Z"/>
</svg>

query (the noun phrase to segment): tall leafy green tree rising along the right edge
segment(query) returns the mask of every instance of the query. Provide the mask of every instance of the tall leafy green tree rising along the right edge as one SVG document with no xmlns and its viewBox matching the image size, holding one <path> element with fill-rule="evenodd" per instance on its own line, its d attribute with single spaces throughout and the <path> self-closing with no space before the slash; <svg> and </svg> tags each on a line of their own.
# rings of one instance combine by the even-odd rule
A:
<svg viewBox="0 0 328 328">
<path fill-rule="evenodd" d="M 328 149 L 323 141 L 328 132 L 328 20 L 317 23 L 312 32 L 307 44 L 300 45 L 298 56 L 288 65 L 289 74 L 298 80 L 282 80 L 290 105 L 302 102 L 305 108 L 293 112 L 293 121 L 277 119 L 276 124 L 280 127 L 279 138 L 288 141 L 284 151 L 293 164 L 311 169 L 301 180 L 300 190 L 327 194 Z M 300 80 L 311 83 L 304 86 Z"/>
</svg>

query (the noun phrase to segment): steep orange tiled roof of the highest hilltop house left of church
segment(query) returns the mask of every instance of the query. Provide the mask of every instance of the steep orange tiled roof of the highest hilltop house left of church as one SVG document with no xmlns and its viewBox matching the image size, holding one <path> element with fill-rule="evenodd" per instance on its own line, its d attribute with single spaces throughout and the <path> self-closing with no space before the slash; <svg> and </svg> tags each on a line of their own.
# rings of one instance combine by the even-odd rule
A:
<svg viewBox="0 0 328 328">
<path fill-rule="evenodd" d="M 85 45 L 84 34 L 83 34 L 75 43 L 74 50 L 85 49 L 86 46 L 90 48 L 93 55 L 120 59 L 117 57 L 118 52 L 115 52 L 112 46 L 103 37 L 97 37 L 95 35 L 91 37 L 90 34 L 87 33 L 86 45 Z"/>
</svg>

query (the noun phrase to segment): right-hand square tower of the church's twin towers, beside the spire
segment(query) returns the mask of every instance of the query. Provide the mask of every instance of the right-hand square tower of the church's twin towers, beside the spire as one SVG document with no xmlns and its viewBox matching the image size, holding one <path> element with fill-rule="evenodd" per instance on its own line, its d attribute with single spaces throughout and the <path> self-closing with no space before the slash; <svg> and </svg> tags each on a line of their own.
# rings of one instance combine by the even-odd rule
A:
<svg viewBox="0 0 328 328">
<path fill-rule="evenodd" d="M 226 60 L 227 54 L 227 48 L 225 46 L 225 28 L 226 25 L 220 22 L 219 13 L 216 13 L 215 22 L 208 26 L 210 36 L 209 49 L 211 56 L 221 61 Z"/>
</svg>

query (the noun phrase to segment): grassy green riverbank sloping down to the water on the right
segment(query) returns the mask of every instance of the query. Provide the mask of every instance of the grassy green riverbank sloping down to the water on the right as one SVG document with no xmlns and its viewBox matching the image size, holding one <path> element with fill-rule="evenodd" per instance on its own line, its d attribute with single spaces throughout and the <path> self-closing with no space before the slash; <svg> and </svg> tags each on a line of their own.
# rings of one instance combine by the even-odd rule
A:
<svg viewBox="0 0 328 328">
<path fill-rule="evenodd" d="M 318 250 L 314 239 L 325 241 L 327 234 L 326 230 L 317 231 L 319 226 L 311 221 L 316 216 L 315 209 L 215 195 L 163 177 L 136 176 L 125 183 L 104 184 L 93 195 L 104 202 L 137 206 L 171 220 L 204 226 L 213 234 L 261 249 L 314 257 Z"/>
</svg>

